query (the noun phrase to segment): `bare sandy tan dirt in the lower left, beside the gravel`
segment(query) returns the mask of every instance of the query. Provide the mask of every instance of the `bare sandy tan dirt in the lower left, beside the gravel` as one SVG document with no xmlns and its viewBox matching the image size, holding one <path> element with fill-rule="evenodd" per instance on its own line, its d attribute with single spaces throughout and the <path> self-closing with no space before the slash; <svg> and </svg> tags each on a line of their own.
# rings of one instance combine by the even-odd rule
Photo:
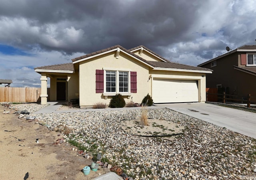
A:
<svg viewBox="0 0 256 180">
<path fill-rule="evenodd" d="M 10 109 L 0 105 L 0 179 L 24 179 L 28 172 L 28 180 L 90 180 L 109 172 L 100 167 L 85 176 L 81 170 L 89 166 L 92 159 L 78 156 L 77 151 L 72 150 L 76 147 L 67 142 L 55 145 L 62 134 L 34 121 L 18 119 L 12 110 L 3 114 L 4 110 Z"/>
</svg>

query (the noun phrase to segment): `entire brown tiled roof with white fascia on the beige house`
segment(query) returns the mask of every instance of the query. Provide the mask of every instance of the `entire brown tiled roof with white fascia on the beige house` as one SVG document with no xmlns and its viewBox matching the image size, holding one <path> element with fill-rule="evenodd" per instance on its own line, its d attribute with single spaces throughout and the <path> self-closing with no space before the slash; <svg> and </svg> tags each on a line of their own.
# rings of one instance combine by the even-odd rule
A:
<svg viewBox="0 0 256 180">
<path fill-rule="evenodd" d="M 144 49 L 146 49 L 150 53 L 158 56 L 163 61 L 162 62 L 160 62 L 160 61 L 147 61 L 146 59 L 143 59 L 142 57 L 140 57 L 140 56 L 134 54 L 133 52 L 131 52 L 131 51 L 133 51 L 135 49 L 139 49 L 141 47 L 143 47 Z M 118 51 L 118 50 L 134 57 L 135 59 L 138 59 L 142 63 L 152 67 L 153 70 L 192 71 L 192 72 L 212 73 L 211 69 L 206 69 L 206 68 L 202 68 L 202 67 L 194 67 L 194 66 L 169 62 L 167 59 L 164 59 L 163 57 L 154 53 L 153 51 L 151 51 L 150 49 L 146 48 L 143 45 L 140 45 L 138 47 L 134 47 L 134 48 L 129 49 L 129 50 L 125 49 L 121 45 L 115 45 L 115 46 L 112 46 L 112 47 L 108 47 L 106 49 L 102 49 L 100 51 L 95 51 L 93 53 L 89 53 L 89 54 L 86 54 L 86 55 L 83 55 L 83 56 L 80 56 L 80 57 L 76 57 L 76 58 L 72 59 L 73 63 L 36 67 L 35 71 L 38 72 L 38 73 L 39 72 L 61 72 L 61 71 L 69 71 L 69 73 L 72 73 L 72 72 L 74 72 L 74 65 L 73 64 L 79 63 L 80 61 L 86 61 L 87 59 L 91 59 L 93 57 L 97 57 L 99 55 L 109 53 L 111 51 Z"/>
</svg>

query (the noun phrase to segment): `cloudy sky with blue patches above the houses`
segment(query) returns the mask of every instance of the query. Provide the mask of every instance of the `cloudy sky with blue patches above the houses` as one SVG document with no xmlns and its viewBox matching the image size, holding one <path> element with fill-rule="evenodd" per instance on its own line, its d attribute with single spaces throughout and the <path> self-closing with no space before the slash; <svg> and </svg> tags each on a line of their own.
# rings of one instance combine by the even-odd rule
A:
<svg viewBox="0 0 256 180">
<path fill-rule="evenodd" d="M 0 79 L 40 87 L 35 67 L 121 45 L 197 66 L 255 45 L 255 0 L 0 0 Z"/>
</svg>

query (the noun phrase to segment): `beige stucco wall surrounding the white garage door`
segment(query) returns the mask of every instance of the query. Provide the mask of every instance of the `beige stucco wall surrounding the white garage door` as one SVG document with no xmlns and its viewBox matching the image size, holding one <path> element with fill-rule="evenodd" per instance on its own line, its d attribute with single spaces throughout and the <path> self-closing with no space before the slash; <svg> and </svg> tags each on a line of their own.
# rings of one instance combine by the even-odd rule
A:
<svg viewBox="0 0 256 180">
<path fill-rule="evenodd" d="M 184 80 L 197 80 L 198 81 L 198 102 L 206 101 L 206 74 L 205 73 L 192 73 L 192 72 L 180 72 L 180 71 L 160 71 L 150 70 L 151 77 L 157 79 L 184 79 Z M 204 77 L 202 77 L 204 76 Z M 152 82 L 151 79 L 151 82 Z M 149 89 L 152 94 L 152 88 Z M 154 95 L 152 95 L 154 99 Z"/>
</svg>

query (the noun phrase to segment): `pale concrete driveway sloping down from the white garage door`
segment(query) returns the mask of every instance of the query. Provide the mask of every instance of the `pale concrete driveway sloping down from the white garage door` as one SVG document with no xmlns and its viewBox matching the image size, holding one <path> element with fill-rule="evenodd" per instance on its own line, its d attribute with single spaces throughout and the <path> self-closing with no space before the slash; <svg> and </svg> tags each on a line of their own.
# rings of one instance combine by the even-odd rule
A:
<svg viewBox="0 0 256 180">
<path fill-rule="evenodd" d="M 155 104 L 156 105 L 156 104 Z M 185 115 L 226 127 L 237 133 L 256 138 L 256 113 L 208 103 L 157 104 Z"/>
</svg>

